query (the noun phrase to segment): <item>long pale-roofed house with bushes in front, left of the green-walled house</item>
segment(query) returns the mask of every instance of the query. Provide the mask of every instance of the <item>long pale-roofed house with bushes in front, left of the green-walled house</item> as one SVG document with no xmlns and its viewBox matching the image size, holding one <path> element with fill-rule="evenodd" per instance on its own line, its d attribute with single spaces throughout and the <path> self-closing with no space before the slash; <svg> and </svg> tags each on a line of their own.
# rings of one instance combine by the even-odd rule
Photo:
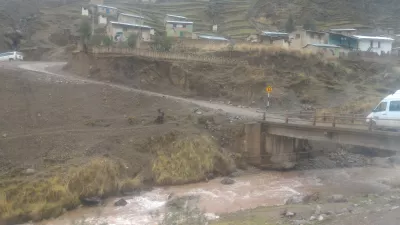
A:
<svg viewBox="0 0 400 225">
<path fill-rule="evenodd" d="M 154 29 L 146 25 L 113 21 L 107 25 L 107 35 L 115 42 L 126 41 L 130 34 L 136 34 L 139 36 L 139 40 L 149 42 L 154 35 Z"/>
</svg>

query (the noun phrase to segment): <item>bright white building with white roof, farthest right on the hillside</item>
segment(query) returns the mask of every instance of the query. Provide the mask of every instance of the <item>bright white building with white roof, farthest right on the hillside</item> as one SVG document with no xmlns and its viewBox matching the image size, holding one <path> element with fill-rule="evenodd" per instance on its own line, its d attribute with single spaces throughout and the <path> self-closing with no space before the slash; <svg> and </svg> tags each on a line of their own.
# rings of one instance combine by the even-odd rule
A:
<svg viewBox="0 0 400 225">
<path fill-rule="evenodd" d="M 390 54 L 392 51 L 393 38 L 389 37 L 373 37 L 354 35 L 358 40 L 358 49 L 365 52 L 376 52 L 378 55 Z"/>
</svg>

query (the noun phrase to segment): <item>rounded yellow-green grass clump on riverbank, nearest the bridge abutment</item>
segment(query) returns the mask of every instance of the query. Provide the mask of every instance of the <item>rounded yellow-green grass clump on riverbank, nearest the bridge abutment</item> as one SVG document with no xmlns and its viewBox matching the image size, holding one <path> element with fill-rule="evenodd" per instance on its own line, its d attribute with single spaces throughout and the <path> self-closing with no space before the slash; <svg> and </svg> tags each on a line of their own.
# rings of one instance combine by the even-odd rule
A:
<svg viewBox="0 0 400 225">
<path fill-rule="evenodd" d="M 157 184 L 184 184 L 206 179 L 208 173 L 229 173 L 234 163 L 205 135 L 181 138 L 163 145 L 153 162 Z"/>
</svg>

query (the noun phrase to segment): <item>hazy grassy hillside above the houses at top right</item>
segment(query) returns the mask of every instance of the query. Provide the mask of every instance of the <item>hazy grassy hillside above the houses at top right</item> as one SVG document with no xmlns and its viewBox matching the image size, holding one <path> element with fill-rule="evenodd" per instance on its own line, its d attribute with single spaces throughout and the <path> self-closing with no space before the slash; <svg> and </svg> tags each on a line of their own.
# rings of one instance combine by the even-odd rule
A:
<svg viewBox="0 0 400 225">
<path fill-rule="evenodd" d="M 320 29 L 377 25 L 400 28 L 397 0 L 259 0 L 253 16 L 265 27 L 282 28 L 292 14 L 297 25 L 307 19 Z"/>
</svg>

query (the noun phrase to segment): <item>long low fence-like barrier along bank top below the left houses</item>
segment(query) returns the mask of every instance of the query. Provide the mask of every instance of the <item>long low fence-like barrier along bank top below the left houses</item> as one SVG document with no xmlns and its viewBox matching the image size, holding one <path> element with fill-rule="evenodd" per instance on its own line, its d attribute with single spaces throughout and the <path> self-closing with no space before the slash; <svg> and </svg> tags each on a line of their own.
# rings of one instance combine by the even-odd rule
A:
<svg viewBox="0 0 400 225">
<path fill-rule="evenodd" d="M 157 52 L 141 49 L 130 49 L 130 48 L 114 48 L 114 47 L 93 47 L 89 49 L 89 53 L 96 55 L 133 55 L 153 59 L 161 60 L 183 60 L 183 61 L 196 61 L 216 64 L 227 64 L 227 65 L 248 65 L 247 61 L 228 59 L 223 57 L 188 54 L 188 53 L 177 53 L 177 52 Z"/>
</svg>

